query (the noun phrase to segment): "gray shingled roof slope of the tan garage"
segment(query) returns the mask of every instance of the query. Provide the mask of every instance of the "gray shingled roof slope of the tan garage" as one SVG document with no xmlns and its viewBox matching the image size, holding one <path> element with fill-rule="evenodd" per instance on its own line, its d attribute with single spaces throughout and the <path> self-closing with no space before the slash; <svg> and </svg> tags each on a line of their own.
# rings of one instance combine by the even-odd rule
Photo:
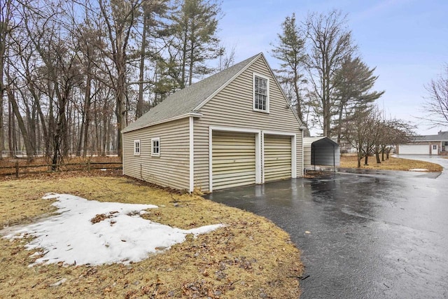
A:
<svg viewBox="0 0 448 299">
<path fill-rule="evenodd" d="M 253 57 L 250 57 L 238 64 L 235 64 L 228 69 L 220 71 L 217 74 L 209 76 L 202 81 L 194 83 L 183 90 L 174 92 L 163 102 L 152 108 L 143 116 L 138 118 L 134 123 L 131 123 L 125 127 L 122 132 L 130 132 L 133 130 L 139 130 L 144 127 L 149 127 L 172 118 L 181 117 L 188 113 L 197 112 L 194 109 L 200 106 L 204 101 L 209 99 L 211 95 L 219 90 L 224 85 L 230 83 L 230 81 L 239 74 L 240 71 L 248 67 L 254 62 L 262 53 L 259 53 Z"/>
</svg>

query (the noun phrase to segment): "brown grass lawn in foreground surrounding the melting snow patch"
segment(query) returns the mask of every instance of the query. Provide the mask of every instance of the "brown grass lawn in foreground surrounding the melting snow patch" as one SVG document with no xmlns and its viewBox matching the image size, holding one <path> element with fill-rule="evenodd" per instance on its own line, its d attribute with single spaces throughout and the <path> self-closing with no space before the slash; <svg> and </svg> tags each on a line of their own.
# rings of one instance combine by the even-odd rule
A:
<svg viewBox="0 0 448 299">
<path fill-rule="evenodd" d="M 0 238 L 0 298 L 297 298 L 303 267 L 286 232 L 266 218 L 123 176 L 52 174 L 0 182 L 0 229 L 51 214 L 45 193 L 156 204 L 144 216 L 182 229 L 225 223 L 130 265 L 37 265 L 27 240 Z M 57 281 L 66 279 L 59 286 Z"/>
</svg>

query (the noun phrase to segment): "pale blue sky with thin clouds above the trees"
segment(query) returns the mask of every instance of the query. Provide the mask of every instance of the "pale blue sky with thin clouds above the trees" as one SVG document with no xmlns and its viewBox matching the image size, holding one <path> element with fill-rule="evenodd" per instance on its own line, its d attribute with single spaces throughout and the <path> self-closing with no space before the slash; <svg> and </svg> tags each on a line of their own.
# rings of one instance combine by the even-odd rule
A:
<svg viewBox="0 0 448 299">
<path fill-rule="evenodd" d="M 222 8 L 219 35 L 224 46 L 235 46 L 235 62 L 263 52 L 272 68 L 277 61 L 269 43 L 276 41 L 287 15 L 295 13 L 301 22 L 309 12 L 347 13 L 358 53 L 369 67 L 377 67 L 375 90 L 386 90 L 377 100 L 380 109 L 419 125 L 419 134 L 441 129 L 430 129 L 415 116 L 423 113 L 424 85 L 448 63 L 447 0 L 224 0 Z"/>
</svg>

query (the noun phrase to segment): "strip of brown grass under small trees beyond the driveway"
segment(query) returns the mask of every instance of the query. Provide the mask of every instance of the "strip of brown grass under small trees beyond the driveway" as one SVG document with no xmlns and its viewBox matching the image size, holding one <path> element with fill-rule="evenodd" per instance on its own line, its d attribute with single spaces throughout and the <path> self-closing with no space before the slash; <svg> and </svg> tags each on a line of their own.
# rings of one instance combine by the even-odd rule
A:
<svg viewBox="0 0 448 299">
<path fill-rule="evenodd" d="M 341 155 L 341 167 L 343 168 L 356 168 L 358 166 L 356 155 Z M 361 168 L 364 169 L 383 169 L 383 170 L 409 170 L 409 169 L 428 169 L 428 172 L 441 172 L 442 167 L 435 163 L 394 158 L 391 157 L 388 160 L 377 164 L 376 158 L 369 157 L 369 165 L 364 165 L 364 159 L 361 160 Z"/>
</svg>

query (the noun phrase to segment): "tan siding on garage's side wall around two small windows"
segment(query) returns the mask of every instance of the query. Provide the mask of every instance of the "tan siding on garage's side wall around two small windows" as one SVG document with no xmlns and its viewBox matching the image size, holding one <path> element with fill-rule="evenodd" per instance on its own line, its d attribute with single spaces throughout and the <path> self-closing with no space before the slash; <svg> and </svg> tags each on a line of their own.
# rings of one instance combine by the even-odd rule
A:
<svg viewBox="0 0 448 299">
<path fill-rule="evenodd" d="M 123 134 L 123 172 L 127 176 L 189 189 L 189 119 L 146 127 Z M 160 137 L 160 156 L 151 156 L 151 138 Z M 134 155 L 134 140 L 140 139 L 140 155 Z"/>
</svg>

